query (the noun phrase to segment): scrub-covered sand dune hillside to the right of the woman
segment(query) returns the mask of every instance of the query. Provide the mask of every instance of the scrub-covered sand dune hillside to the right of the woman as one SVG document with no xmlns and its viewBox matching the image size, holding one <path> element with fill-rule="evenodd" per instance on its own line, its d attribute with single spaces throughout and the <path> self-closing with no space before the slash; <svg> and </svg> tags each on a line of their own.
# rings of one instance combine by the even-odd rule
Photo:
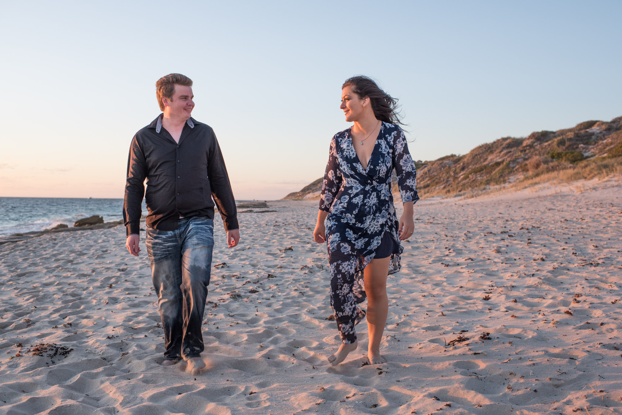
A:
<svg viewBox="0 0 622 415">
<path fill-rule="evenodd" d="M 591 162 L 617 157 L 616 146 L 622 146 L 622 117 L 538 131 L 527 138 L 500 138 L 463 156 L 451 154 L 417 166 L 417 190 L 422 197 L 453 196 L 588 168 Z"/>
</svg>

